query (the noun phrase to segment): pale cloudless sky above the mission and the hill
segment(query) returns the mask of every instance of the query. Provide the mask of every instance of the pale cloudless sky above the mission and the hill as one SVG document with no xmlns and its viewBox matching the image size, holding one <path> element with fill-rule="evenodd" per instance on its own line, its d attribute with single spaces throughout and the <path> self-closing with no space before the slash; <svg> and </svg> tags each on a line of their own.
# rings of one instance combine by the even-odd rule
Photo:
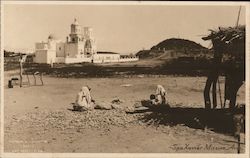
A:
<svg viewBox="0 0 250 158">
<path fill-rule="evenodd" d="M 168 38 L 193 40 L 218 26 L 235 26 L 239 6 L 5 4 L 4 49 L 31 52 L 50 34 L 66 40 L 76 18 L 93 28 L 98 51 L 136 53 Z M 242 7 L 239 24 L 245 24 Z"/>
</svg>

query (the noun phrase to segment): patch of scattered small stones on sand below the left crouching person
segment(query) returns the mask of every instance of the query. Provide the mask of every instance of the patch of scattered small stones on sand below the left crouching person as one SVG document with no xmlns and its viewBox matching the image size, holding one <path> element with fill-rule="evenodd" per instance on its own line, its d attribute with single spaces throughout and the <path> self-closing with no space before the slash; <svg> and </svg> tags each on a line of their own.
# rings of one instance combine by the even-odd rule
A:
<svg viewBox="0 0 250 158">
<path fill-rule="evenodd" d="M 88 128 L 105 130 L 111 126 L 126 127 L 131 124 L 138 124 L 137 120 L 140 118 L 140 115 L 126 114 L 122 106 L 116 106 L 115 110 L 93 110 L 81 113 L 62 110 L 30 112 L 18 117 L 20 122 L 17 122 L 17 116 L 12 116 L 9 128 L 18 130 L 19 127 L 22 127 L 22 129 L 35 128 L 46 133 L 58 130 L 63 133 L 65 130 L 72 129 L 77 129 L 76 132 L 81 132 L 81 129 Z M 110 109 L 112 105 L 106 103 L 104 107 L 105 109 Z M 131 108 L 133 109 L 133 107 Z"/>
</svg>

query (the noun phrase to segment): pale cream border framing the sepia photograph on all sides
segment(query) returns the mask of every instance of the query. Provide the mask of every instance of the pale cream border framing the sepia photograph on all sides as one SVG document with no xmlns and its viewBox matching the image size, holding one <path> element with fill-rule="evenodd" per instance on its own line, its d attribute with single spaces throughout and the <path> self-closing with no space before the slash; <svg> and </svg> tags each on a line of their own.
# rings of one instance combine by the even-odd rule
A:
<svg viewBox="0 0 250 158">
<path fill-rule="evenodd" d="M 176 154 L 152 154 L 152 153 L 4 153 L 3 150 L 3 144 L 4 144 L 4 59 L 3 59 L 3 46 L 4 46 L 4 27 L 3 27 L 3 10 L 4 5 L 9 4 L 35 4 L 35 5 L 69 5 L 69 4 L 75 4 L 75 5 L 168 5 L 168 6 L 198 6 L 198 5 L 209 5 L 209 6 L 245 6 L 246 7 L 246 144 L 245 144 L 245 154 L 213 154 L 213 153 L 176 153 Z M 163 2 L 163 1 L 156 1 L 156 2 L 148 2 L 148 1 L 2 1 L 1 2 L 1 139 L 0 139 L 0 157 L 4 158 L 33 158 L 33 157 L 171 157 L 171 158 L 177 158 L 177 157 L 185 157 L 185 158 L 200 158 L 200 157 L 216 157 L 216 158 L 248 158 L 249 157 L 249 62 L 250 62 L 250 40 L 249 40 L 249 24 L 250 24 L 250 3 L 249 2 Z"/>
</svg>

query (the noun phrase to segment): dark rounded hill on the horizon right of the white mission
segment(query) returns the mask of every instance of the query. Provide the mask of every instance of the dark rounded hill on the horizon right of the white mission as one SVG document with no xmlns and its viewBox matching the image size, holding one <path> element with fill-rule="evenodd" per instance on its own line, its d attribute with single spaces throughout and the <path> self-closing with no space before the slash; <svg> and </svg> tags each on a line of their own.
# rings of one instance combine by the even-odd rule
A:
<svg viewBox="0 0 250 158">
<path fill-rule="evenodd" d="M 140 50 L 136 55 L 139 56 L 139 58 L 154 58 L 161 56 L 164 56 L 164 58 L 166 58 L 170 53 L 175 54 L 174 56 L 178 57 L 196 56 L 198 54 L 205 55 L 208 52 L 209 49 L 194 41 L 190 41 L 187 39 L 170 38 L 158 43 L 150 50 Z"/>
</svg>

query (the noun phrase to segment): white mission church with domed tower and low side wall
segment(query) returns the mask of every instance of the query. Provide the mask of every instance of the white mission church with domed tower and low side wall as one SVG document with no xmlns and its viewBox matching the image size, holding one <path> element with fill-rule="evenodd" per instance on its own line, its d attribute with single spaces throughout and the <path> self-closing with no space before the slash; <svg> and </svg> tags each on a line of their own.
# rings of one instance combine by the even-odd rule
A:
<svg viewBox="0 0 250 158">
<path fill-rule="evenodd" d="M 129 62 L 136 61 L 136 57 L 122 58 L 118 53 L 97 52 L 96 42 L 93 38 L 93 29 L 84 27 L 77 20 L 71 24 L 71 32 L 66 37 L 66 42 L 49 35 L 47 42 L 35 44 L 36 63 L 105 63 L 105 62 Z"/>
</svg>

